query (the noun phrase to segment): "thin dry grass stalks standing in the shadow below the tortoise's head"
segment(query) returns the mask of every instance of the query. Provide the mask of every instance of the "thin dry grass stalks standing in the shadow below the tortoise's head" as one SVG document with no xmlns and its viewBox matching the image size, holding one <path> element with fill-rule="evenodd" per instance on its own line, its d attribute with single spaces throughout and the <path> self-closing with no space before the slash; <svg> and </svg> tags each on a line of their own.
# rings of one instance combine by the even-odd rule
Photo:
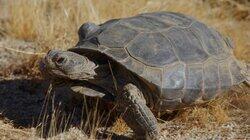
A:
<svg viewBox="0 0 250 140">
<path fill-rule="evenodd" d="M 63 103 L 57 104 L 55 102 L 54 94 L 51 94 L 50 90 L 48 90 L 48 95 L 46 96 L 46 100 L 44 101 L 44 106 L 39 117 L 39 124 L 36 126 L 39 137 L 52 139 L 53 137 L 61 137 L 62 139 L 65 139 L 64 133 L 67 133 L 68 130 L 74 128 L 74 131 L 78 131 L 78 134 L 80 132 L 80 135 L 84 136 L 78 137 L 77 139 L 96 138 L 98 135 L 98 128 L 107 123 L 109 119 L 107 114 L 109 113 L 100 110 L 99 100 L 93 101 L 91 108 L 89 108 L 87 101 L 84 103 L 85 104 L 83 104 L 81 110 L 72 108 L 70 112 L 65 112 L 61 107 Z M 74 121 L 76 119 L 78 119 L 77 122 L 79 124 L 75 124 Z M 68 133 L 68 135 L 70 135 L 70 133 Z"/>
</svg>

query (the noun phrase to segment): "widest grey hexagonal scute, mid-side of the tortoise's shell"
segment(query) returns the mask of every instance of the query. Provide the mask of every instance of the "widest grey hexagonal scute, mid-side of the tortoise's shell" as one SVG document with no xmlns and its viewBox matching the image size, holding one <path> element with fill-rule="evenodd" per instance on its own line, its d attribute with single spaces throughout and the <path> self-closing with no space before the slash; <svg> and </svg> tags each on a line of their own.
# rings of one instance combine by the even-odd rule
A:
<svg viewBox="0 0 250 140">
<path fill-rule="evenodd" d="M 140 34 L 127 50 L 132 57 L 149 66 L 162 67 L 178 61 L 170 41 L 160 33 Z"/>
</svg>

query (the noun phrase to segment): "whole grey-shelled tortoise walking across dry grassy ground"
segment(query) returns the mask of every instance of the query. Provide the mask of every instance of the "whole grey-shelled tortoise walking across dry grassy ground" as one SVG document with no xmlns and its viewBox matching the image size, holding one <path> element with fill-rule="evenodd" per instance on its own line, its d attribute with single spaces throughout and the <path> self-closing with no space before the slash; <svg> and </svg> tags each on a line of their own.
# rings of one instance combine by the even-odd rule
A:
<svg viewBox="0 0 250 140">
<path fill-rule="evenodd" d="M 87 22 L 78 35 L 75 47 L 50 50 L 41 71 L 53 81 L 74 81 L 76 93 L 117 104 L 138 138 L 157 138 L 157 114 L 209 101 L 249 82 L 230 38 L 181 13 Z"/>
</svg>

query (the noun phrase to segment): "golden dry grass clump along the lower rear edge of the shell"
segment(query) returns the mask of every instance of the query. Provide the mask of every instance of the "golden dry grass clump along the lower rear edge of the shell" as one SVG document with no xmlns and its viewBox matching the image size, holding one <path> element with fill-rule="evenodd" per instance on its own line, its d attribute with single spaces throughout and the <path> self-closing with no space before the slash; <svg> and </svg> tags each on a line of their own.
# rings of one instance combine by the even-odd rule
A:
<svg viewBox="0 0 250 140">
<path fill-rule="evenodd" d="M 243 86 L 243 89 L 240 87 L 236 87 L 236 89 L 243 91 L 237 93 L 232 90 L 222 98 L 215 99 L 207 104 L 183 109 L 178 113 L 174 121 L 204 127 L 209 124 L 225 124 L 232 121 L 236 114 L 243 120 L 247 119 L 250 116 L 249 88 Z"/>
</svg>

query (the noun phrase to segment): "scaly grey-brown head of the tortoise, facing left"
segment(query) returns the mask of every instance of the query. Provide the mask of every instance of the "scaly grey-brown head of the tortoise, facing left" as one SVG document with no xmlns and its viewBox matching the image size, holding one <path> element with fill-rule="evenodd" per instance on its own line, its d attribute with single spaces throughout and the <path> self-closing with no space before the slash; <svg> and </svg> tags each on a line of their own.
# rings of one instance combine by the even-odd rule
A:
<svg viewBox="0 0 250 140">
<path fill-rule="evenodd" d="M 50 50 L 40 63 L 40 71 L 52 80 L 93 79 L 95 68 L 87 57 L 70 51 Z"/>
</svg>

